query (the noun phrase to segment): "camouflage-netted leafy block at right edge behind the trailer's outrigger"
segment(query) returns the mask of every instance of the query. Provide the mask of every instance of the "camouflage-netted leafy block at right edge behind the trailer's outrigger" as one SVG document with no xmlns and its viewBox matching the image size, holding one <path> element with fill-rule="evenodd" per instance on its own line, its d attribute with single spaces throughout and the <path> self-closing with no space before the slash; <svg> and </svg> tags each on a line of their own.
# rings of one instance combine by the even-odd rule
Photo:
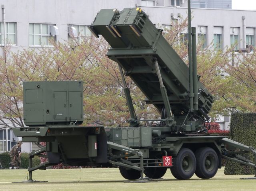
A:
<svg viewBox="0 0 256 191">
<path fill-rule="evenodd" d="M 256 148 L 256 113 L 234 113 L 231 115 L 229 138 Z M 252 153 L 244 154 L 244 157 L 254 161 Z M 227 161 L 224 174 L 240 175 L 255 174 L 253 167 L 242 166 L 233 161 Z"/>
</svg>

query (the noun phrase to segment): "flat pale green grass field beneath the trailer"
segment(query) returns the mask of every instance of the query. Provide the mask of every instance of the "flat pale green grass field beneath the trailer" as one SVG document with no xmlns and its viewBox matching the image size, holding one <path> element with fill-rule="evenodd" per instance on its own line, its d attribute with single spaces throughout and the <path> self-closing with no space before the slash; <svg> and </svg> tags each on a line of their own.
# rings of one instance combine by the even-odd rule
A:
<svg viewBox="0 0 256 191">
<path fill-rule="evenodd" d="M 219 169 L 212 179 L 176 180 L 170 170 L 157 182 L 127 182 L 118 168 L 108 169 L 47 169 L 33 172 L 33 179 L 46 183 L 12 183 L 27 179 L 25 169 L 0 170 L 1 191 L 255 191 L 256 179 L 241 180 L 253 175 L 224 175 Z"/>
</svg>

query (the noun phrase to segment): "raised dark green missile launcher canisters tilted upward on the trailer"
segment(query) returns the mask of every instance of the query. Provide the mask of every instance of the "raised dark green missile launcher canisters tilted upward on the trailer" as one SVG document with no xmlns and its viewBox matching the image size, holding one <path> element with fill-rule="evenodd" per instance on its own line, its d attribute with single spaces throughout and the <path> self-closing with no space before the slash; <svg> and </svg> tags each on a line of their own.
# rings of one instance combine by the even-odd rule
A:
<svg viewBox="0 0 256 191">
<path fill-rule="evenodd" d="M 101 10 L 90 29 L 96 37 L 102 35 L 108 41 L 108 58 L 118 63 L 121 74 L 123 69 L 136 83 L 146 96 L 146 103 L 158 108 L 162 124 L 171 127 L 172 132 L 204 130 L 212 95 L 196 73 L 194 93 L 191 91 L 188 66 L 140 8 Z M 123 82 L 126 89 L 124 78 Z M 128 90 L 125 93 L 128 95 Z M 131 105 L 130 108 L 131 126 L 136 126 L 134 109 Z"/>
</svg>

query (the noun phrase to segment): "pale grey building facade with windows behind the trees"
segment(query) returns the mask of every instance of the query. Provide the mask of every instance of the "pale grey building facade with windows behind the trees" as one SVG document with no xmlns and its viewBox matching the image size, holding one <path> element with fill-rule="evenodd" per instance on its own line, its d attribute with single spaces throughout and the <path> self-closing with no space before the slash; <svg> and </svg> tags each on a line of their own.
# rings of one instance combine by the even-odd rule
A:
<svg viewBox="0 0 256 191">
<path fill-rule="evenodd" d="M 187 0 L 0 0 L 0 4 L 0 46 L 10 46 L 14 52 L 51 48 L 52 41 L 65 43 L 71 36 L 78 40 L 79 35 L 90 36 L 87 27 L 100 9 L 138 6 L 156 26 L 165 28 L 186 18 L 188 6 Z M 235 49 L 255 46 L 256 11 L 232 10 L 232 0 L 191 0 L 191 7 L 192 26 L 204 47 L 212 42 L 218 49 L 236 42 Z M 228 122 L 229 118 L 224 117 L 222 128 L 227 129 Z M 0 152 L 10 150 L 16 141 L 12 130 L 0 129 Z M 31 144 L 22 146 L 24 151 L 32 150 Z"/>
</svg>

